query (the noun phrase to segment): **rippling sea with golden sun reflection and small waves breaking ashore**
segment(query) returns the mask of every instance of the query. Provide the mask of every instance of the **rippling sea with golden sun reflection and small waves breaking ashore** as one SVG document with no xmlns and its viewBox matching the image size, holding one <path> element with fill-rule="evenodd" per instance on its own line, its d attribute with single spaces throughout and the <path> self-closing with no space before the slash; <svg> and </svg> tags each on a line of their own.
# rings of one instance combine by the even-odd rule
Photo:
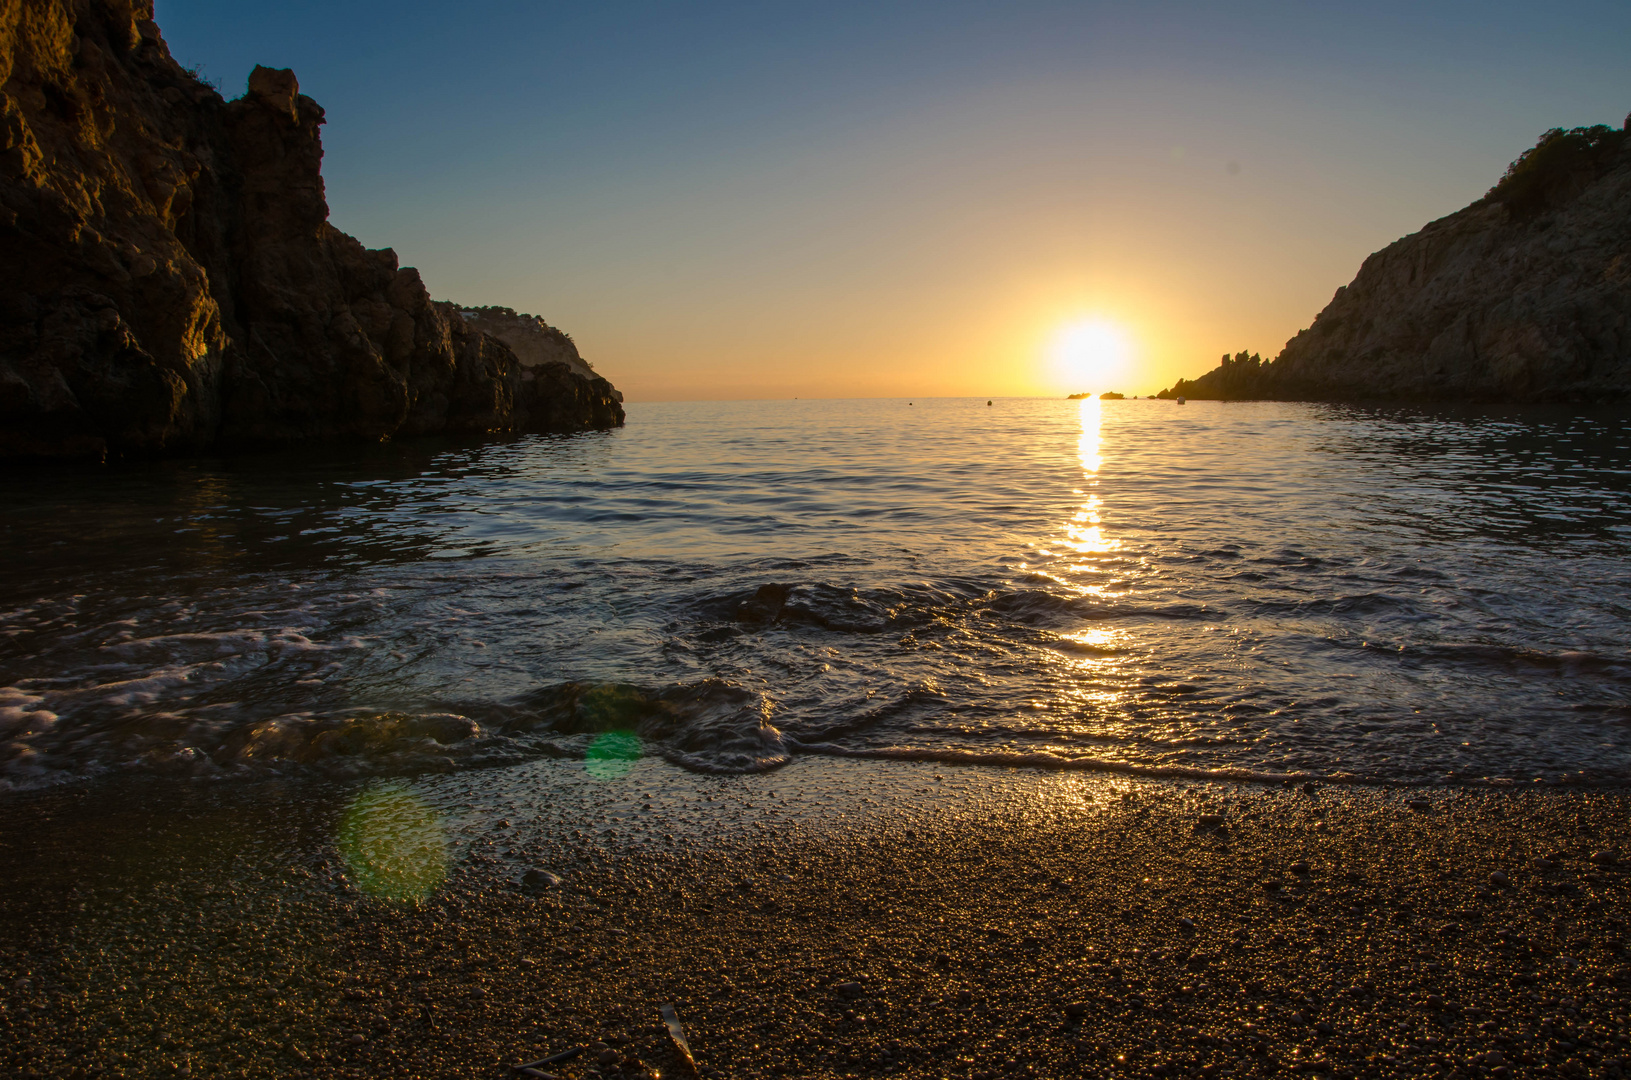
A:
<svg viewBox="0 0 1631 1080">
<path fill-rule="evenodd" d="M 1631 418 L 634 405 L 13 470 L 0 783 L 799 755 L 1631 778 Z"/>
</svg>

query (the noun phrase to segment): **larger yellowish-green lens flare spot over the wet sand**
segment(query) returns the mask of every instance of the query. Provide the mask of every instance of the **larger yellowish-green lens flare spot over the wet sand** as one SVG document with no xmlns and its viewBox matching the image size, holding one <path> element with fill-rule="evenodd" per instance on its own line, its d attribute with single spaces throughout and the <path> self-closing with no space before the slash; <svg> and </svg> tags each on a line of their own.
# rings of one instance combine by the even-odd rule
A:
<svg viewBox="0 0 1631 1080">
<path fill-rule="evenodd" d="M 339 853 L 357 887 L 418 904 L 447 879 L 447 834 L 435 811 L 401 783 L 364 788 L 339 822 Z"/>
</svg>

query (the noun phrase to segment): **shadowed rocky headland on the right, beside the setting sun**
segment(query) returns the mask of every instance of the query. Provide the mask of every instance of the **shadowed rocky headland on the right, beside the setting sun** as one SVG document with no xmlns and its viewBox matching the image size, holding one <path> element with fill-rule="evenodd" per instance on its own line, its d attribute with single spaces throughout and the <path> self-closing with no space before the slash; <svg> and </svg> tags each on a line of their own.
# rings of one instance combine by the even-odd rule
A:
<svg viewBox="0 0 1631 1080">
<path fill-rule="evenodd" d="M 1487 196 L 1365 259 L 1272 362 L 1225 357 L 1161 396 L 1631 396 L 1631 139 L 1546 132 Z"/>
</svg>

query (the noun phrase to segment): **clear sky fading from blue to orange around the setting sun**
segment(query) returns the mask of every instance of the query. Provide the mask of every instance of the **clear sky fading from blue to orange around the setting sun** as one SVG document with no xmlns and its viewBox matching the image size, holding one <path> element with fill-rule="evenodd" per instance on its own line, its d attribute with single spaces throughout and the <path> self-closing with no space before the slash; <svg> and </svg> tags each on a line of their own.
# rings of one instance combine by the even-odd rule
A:
<svg viewBox="0 0 1631 1080">
<path fill-rule="evenodd" d="M 328 111 L 331 220 L 631 401 L 1155 393 L 1272 357 L 1548 127 L 1631 3 L 158 0 Z"/>
</svg>

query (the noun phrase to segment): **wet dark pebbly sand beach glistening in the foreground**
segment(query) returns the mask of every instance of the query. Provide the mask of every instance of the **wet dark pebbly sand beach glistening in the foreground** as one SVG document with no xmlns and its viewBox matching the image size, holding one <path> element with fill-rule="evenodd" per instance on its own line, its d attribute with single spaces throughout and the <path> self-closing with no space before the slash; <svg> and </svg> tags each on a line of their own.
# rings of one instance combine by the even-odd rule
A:
<svg viewBox="0 0 1631 1080">
<path fill-rule="evenodd" d="M 688 1075 L 674 1003 L 706 1077 L 1615 1077 L 1628 809 L 846 760 L 11 798 L 0 1072 Z"/>
</svg>

